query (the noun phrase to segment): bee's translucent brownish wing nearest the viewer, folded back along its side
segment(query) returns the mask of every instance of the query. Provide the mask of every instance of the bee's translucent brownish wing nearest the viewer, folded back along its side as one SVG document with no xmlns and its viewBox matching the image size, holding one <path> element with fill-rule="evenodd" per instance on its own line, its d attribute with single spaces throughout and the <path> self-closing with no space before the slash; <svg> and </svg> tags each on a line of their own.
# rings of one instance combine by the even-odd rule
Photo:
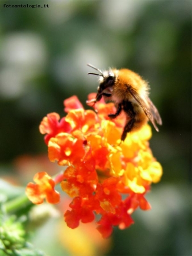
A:
<svg viewBox="0 0 192 256">
<path fill-rule="evenodd" d="M 156 122 L 158 125 L 162 125 L 160 114 L 156 109 L 156 106 L 153 105 L 153 102 L 150 100 L 148 96 L 145 96 L 145 100 L 139 96 L 135 89 L 131 86 L 127 86 L 131 96 L 135 98 L 137 103 L 141 106 L 149 120 L 152 122 L 153 126 L 155 127 L 156 131 L 158 131 L 158 127 L 156 126 Z M 147 103 L 146 103 L 147 102 Z"/>
</svg>

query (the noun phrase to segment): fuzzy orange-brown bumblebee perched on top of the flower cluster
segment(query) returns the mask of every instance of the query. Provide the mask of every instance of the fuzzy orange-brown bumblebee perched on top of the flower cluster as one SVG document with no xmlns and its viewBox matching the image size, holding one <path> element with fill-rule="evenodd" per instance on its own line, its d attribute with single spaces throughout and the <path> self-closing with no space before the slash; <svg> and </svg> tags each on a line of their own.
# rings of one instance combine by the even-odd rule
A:
<svg viewBox="0 0 192 256">
<path fill-rule="evenodd" d="M 99 72 L 88 73 L 99 76 L 99 86 L 96 98 L 87 103 L 95 104 L 103 97 L 105 101 L 112 101 L 116 106 L 116 113 L 108 114 L 108 117 L 116 118 L 122 111 L 126 114 L 122 141 L 126 139 L 127 133 L 139 130 L 148 120 L 158 131 L 156 123 L 162 125 L 162 121 L 156 106 L 149 98 L 147 81 L 130 69 L 110 68 L 108 71 L 101 71 L 93 65 L 87 65 Z"/>
</svg>

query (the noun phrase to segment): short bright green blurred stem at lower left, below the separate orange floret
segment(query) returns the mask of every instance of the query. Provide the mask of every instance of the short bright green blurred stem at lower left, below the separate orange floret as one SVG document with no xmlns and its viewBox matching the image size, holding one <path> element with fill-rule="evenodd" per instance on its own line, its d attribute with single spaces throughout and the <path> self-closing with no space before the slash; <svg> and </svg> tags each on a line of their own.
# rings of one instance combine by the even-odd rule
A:
<svg viewBox="0 0 192 256">
<path fill-rule="evenodd" d="M 5 203 L 4 207 L 7 213 L 16 212 L 17 210 L 27 207 L 28 205 L 32 204 L 26 195 L 22 195 L 16 197 L 7 203 Z"/>
</svg>

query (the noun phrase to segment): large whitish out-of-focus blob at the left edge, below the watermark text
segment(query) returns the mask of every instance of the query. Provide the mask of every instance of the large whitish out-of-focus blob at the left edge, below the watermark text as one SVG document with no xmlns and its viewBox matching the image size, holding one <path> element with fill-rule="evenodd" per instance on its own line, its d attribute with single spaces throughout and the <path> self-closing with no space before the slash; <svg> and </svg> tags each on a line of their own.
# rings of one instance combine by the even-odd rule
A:
<svg viewBox="0 0 192 256">
<path fill-rule="evenodd" d="M 26 90 L 28 81 L 43 73 L 47 52 L 39 35 L 17 32 L 4 37 L 0 57 L 0 95 L 15 98 Z"/>
</svg>

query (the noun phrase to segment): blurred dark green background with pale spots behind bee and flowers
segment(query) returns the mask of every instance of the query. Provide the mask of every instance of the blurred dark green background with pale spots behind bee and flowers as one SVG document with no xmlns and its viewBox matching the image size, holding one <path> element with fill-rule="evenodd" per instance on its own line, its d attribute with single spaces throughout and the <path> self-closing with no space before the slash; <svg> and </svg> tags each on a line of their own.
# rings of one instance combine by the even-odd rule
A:
<svg viewBox="0 0 192 256">
<path fill-rule="evenodd" d="M 151 139 L 164 169 L 147 195 L 152 210 L 115 229 L 105 255 L 191 255 L 191 1 L 1 1 L 1 175 L 14 174 L 19 156 L 46 154 L 38 126 L 47 113 L 64 115 L 65 98 L 85 105 L 97 91 L 87 63 L 143 76 L 163 122 Z"/>
</svg>

